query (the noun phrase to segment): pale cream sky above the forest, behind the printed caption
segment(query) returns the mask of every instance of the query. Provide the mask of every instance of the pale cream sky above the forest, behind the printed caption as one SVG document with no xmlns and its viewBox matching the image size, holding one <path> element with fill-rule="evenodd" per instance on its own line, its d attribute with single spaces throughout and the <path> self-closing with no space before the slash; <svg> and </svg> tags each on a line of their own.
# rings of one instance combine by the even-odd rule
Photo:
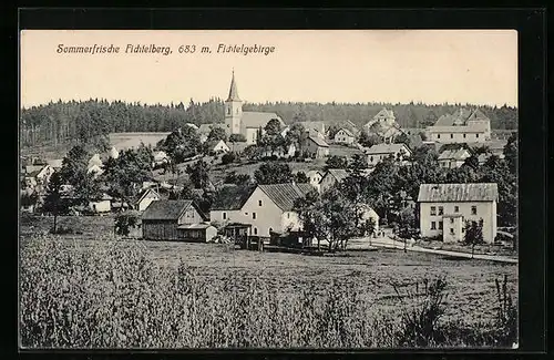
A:
<svg viewBox="0 0 554 360">
<path fill-rule="evenodd" d="M 59 53 L 59 47 L 120 53 Z M 172 53 L 125 53 L 127 45 Z M 179 53 L 181 45 L 194 53 Z M 219 44 L 274 52 L 218 53 Z M 208 47 L 211 53 L 202 52 Z M 514 30 L 23 30 L 21 106 L 106 99 L 168 104 L 226 99 L 232 71 L 243 101 L 517 105 Z"/>
</svg>

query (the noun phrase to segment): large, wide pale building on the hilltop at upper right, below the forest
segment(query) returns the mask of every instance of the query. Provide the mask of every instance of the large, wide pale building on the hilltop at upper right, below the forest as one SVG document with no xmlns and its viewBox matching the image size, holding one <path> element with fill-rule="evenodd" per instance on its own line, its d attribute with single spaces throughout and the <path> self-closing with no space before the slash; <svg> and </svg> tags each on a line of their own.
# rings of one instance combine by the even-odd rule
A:
<svg viewBox="0 0 554 360">
<path fill-rule="evenodd" d="M 479 109 L 460 109 L 453 114 L 439 117 L 427 130 L 428 138 L 442 144 L 482 143 L 491 140 L 491 120 Z"/>
</svg>

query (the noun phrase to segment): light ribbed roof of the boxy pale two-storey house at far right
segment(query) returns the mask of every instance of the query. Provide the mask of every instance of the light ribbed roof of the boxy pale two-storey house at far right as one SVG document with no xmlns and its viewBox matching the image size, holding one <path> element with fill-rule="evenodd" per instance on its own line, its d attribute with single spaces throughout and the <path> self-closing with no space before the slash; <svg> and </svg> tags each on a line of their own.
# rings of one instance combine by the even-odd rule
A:
<svg viewBox="0 0 554 360">
<path fill-rule="evenodd" d="M 492 202 L 499 198 L 495 183 L 421 184 L 418 202 Z"/>
</svg>

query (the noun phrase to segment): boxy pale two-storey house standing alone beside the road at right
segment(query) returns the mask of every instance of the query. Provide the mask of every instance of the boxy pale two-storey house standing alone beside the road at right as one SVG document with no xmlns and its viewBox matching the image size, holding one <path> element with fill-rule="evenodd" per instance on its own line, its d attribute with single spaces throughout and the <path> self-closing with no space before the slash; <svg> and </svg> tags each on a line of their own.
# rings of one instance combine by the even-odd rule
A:
<svg viewBox="0 0 554 360">
<path fill-rule="evenodd" d="M 497 185 L 422 184 L 420 230 L 427 238 L 441 237 L 444 243 L 463 241 L 466 222 L 483 220 L 483 240 L 492 244 L 496 237 Z"/>
</svg>

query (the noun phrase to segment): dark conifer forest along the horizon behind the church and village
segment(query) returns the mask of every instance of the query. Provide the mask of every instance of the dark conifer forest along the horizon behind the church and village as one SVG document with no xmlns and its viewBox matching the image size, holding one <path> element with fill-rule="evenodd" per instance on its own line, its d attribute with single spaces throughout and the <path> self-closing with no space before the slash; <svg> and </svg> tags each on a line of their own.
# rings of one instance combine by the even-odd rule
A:
<svg viewBox="0 0 554 360">
<path fill-rule="evenodd" d="M 410 104 L 341 104 L 291 103 L 244 104 L 244 111 L 275 112 L 286 123 L 296 121 L 325 121 L 328 124 L 346 120 L 363 125 L 382 107 L 392 109 L 402 127 L 424 127 L 443 114 L 471 104 L 425 105 Z M 510 106 L 480 106 L 491 119 L 492 128 L 517 127 L 517 109 Z M 122 101 L 89 100 L 83 102 L 51 102 L 47 105 L 22 109 L 22 145 L 43 142 L 63 143 L 68 140 L 88 141 L 111 132 L 171 132 L 185 123 L 222 122 L 224 103 L 220 99 L 188 104 L 145 105 Z"/>
</svg>

